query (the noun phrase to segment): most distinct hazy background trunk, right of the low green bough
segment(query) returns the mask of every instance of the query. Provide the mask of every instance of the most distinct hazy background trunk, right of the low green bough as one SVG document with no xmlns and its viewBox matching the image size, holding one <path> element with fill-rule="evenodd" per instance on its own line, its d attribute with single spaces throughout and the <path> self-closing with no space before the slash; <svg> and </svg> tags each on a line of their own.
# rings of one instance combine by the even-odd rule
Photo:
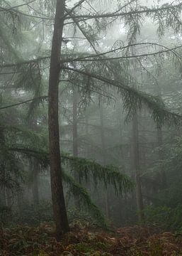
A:
<svg viewBox="0 0 182 256">
<path fill-rule="evenodd" d="M 137 212 L 139 221 L 144 220 L 143 213 L 143 198 L 142 198 L 142 185 L 140 178 L 140 156 L 139 156 L 139 144 L 138 144 L 138 121 L 137 113 L 134 114 L 132 119 L 132 149 L 133 149 L 133 168 L 135 170 L 136 181 L 136 200 L 137 200 Z"/>
</svg>

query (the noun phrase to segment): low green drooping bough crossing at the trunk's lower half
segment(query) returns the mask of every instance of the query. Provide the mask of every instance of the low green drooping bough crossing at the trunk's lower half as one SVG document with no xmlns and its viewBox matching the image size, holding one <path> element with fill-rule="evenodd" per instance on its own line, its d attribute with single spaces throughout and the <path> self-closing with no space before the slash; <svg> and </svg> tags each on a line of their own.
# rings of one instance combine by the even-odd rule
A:
<svg viewBox="0 0 182 256">
<path fill-rule="evenodd" d="M 50 164 L 47 151 L 23 146 L 16 148 L 9 147 L 8 150 L 35 157 L 40 161 L 42 166 Z M 68 165 L 71 169 L 74 168 L 75 171 L 78 172 L 80 178 L 84 179 L 84 181 L 88 181 L 89 177 L 92 176 L 96 186 L 100 183 L 103 183 L 106 188 L 108 188 L 108 186 L 113 186 L 117 195 L 123 196 L 124 193 L 131 191 L 135 185 L 132 180 L 120 172 L 120 169 L 116 166 L 102 166 L 101 164 L 96 163 L 96 161 L 71 156 L 64 152 L 62 152 L 61 158 L 63 164 Z"/>
</svg>

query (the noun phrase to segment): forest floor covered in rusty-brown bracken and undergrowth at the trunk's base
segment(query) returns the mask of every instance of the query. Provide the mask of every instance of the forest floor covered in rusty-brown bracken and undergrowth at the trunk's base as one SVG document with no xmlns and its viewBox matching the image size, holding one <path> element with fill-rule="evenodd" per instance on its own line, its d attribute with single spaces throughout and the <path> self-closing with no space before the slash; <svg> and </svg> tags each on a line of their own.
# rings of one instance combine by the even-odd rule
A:
<svg viewBox="0 0 182 256">
<path fill-rule="evenodd" d="M 1 256 L 182 256 L 182 235 L 159 233 L 152 227 L 126 227 L 103 232 L 74 225 L 60 242 L 52 226 L 18 226 L 0 230 Z"/>
</svg>

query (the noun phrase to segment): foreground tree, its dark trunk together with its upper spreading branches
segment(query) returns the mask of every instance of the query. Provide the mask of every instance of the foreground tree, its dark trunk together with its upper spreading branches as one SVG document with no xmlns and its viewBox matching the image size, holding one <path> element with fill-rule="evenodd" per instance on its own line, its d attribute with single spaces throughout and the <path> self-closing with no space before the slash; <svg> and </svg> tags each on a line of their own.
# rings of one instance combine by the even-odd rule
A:
<svg viewBox="0 0 182 256">
<path fill-rule="evenodd" d="M 177 33 L 181 29 L 179 16 L 181 14 L 181 4 L 164 4 L 160 7 L 149 8 L 141 6 L 138 1 L 127 1 L 126 4 L 120 4 L 117 1 L 115 10 L 110 13 L 101 14 L 99 12 L 93 14 L 84 14 L 83 9 L 80 9 L 78 14 L 75 9 L 83 1 L 79 1 L 72 9 L 67 8 L 65 1 L 57 0 L 56 15 L 55 15 L 55 28 L 52 38 L 52 51 L 51 56 L 43 55 L 40 58 L 32 58 L 29 60 L 19 61 L 19 63 L 5 63 L 2 62 L 1 68 L 16 67 L 16 71 L 23 73 L 23 70 L 32 70 L 34 67 L 35 78 L 40 78 L 40 63 L 50 58 L 50 80 L 49 80 L 49 138 L 50 138 L 50 169 L 51 169 L 51 182 L 52 182 L 52 202 L 55 213 L 57 238 L 60 238 L 62 233 L 67 232 L 68 222 L 67 213 L 64 203 L 64 194 L 62 189 L 62 163 L 59 153 L 59 122 L 58 122 L 58 85 L 59 73 L 64 75 L 64 78 L 69 82 L 73 76 L 79 76 L 79 80 L 74 81 L 75 86 L 83 86 L 86 93 L 91 95 L 92 90 L 99 91 L 101 87 L 115 87 L 118 93 L 123 97 L 124 109 L 128 111 L 127 120 L 130 120 L 131 114 L 136 112 L 136 109 L 141 110 L 142 107 L 147 107 L 151 112 L 153 119 L 161 126 L 164 122 L 181 123 L 181 116 L 174 114 L 166 108 L 164 102 L 159 97 L 148 95 L 146 92 L 139 91 L 132 87 L 133 84 L 138 83 L 137 80 L 132 78 L 130 68 L 132 59 L 140 60 L 140 68 L 144 65 L 144 58 L 154 58 L 156 55 L 167 55 L 173 53 L 176 56 L 175 50 L 181 46 L 173 48 L 163 48 L 157 43 L 136 43 L 138 48 L 137 53 L 128 55 L 128 50 L 132 48 L 132 39 L 140 32 L 142 19 L 151 18 L 159 23 L 158 32 L 159 36 L 164 34 L 166 28 L 173 28 Z M 94 9 L 92 6 L 90 7 Z M 9 12 L 8 7 L 2 9 L 3 12 Z M 81 13 L 81 11 L 83 11 Z M 12 14 L 20 14 L 21 16 L 29 16 L 30 18 L 52 20 L 52 17 L 38 16 L 26 14 L 18 11 L 16 8 L 11 10 Z M 94 11 L 95 12 L 95 11 Z M 80 14 L 81 13 L 81 14 Z M 174 15 L 175 13 L 175 15 Z M 35 11 L 36 14 L 36 11 Z M 49 14 L 48 12 L 46 14 Z M 101 33 L 103 28 L 106 28 L 108 23 L 113 24 L 115 18 L 122 18 L 127 30 L 127 40 L 123 46 L 123 42 L 114 44 L 113 47 L 97 48 L 97 33 Z M 109 19 L 109 21 L 106 21 Z M 63 27 L 76 26 L 77 31 L 86 38 L 86 43 L 81 50 L 70 50 L 62 47 Z M 94 30 L 92 29 L 94 28 Z M 72 30 L 75 31 L 74 29 Z M 73 33 L 74 34 L 74 33 Z M 71 36 L 70 36 L 71 37 Z M 89 50 L 87 47 L 89 46 Z M 140 47 L 146 47 L 144 53 L 140 52 Z M 154 50 L 154 46 L 157 50 Z M 153 47 L 153 48 L 152 48 Z M 71 54 L 70 54 L 71 52 Z M 117 55 L 118 54 L 118 55 Z M 130 61 L 131 60 L 131 61 Z M 17 68 L 18 67 L 18 68 Z M 30 68 L 31 67 L 31 68 Z M 144 66 L 145 68 L 145 66 Z M 13 71 L 12 71 L 13 72 Z M 28 78 L 30 78 L 32 73 Z M 24 76 L 25 78 L 25 76 Z M 29 81 L 27 79 L 26 82 Z M 38 83 L 33 83 L 38 87 Z M 38 91 L 37 91 L 38 92 Z M 38 94 L 38 93 L 37 93 Z M 35 103 L 40 101 L 40 96 L 34 98 Z M 30 99 L 31 100 L 31 99 Z M 7 106 L 5 106 L 7 107 Z M 12 106 L 11 106 L 12 107 Z M 1 107 L 4 109 L 4 106 Z"/>
</svg>

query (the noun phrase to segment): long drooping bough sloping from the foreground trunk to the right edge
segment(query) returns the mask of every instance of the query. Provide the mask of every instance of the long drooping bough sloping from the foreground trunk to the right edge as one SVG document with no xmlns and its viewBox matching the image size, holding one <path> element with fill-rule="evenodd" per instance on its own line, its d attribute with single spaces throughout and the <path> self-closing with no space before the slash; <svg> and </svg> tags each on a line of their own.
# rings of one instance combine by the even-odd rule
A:
<svg viewBox="0 0 182 256">
<path fill-rule="evenodd" d="M 101 82 L 106 82 L 106 84 L 113 87 L 117 87 L 123 97 L 123 107 L 128 111 L 129 116 L 130 114 L 133 114 L 136 109 L 141 109 L 142 105 L 144 105 L 148 108 L 149 112 L 151 112 L 152 118 L 159 126 L 163 125 L 165 122 L 176 125 L 179 125 L 182 122 L 182 116 L 167 110 L 164 102 L 159 97 L 136 90 L 133 87 L 125 85 L 122 81 L 111 80 L 96 73 L 89 73 L 87 70 L 78 70 L 69 66 L 64 66 L 64 70 L 76 72 Z"/>
</svg>

